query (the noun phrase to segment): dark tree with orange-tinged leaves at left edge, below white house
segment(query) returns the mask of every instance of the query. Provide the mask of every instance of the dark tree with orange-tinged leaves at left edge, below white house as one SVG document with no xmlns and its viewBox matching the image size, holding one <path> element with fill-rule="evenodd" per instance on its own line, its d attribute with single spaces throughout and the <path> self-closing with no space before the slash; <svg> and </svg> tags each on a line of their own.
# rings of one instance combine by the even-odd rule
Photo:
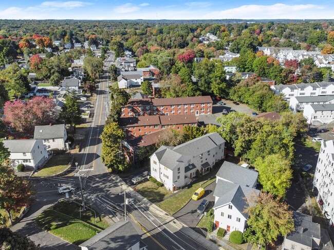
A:
<svg viewBox="0 0 334 250">
<path fill-rule="evenodd" d="M 15 175 L 7 162 L 0 165 L 0 209 L 6 210 L 10 225 L 12 211 L 19 212 L 22 207 L 32 203 L 32 185 L 28 180 Z"/>
</svg>

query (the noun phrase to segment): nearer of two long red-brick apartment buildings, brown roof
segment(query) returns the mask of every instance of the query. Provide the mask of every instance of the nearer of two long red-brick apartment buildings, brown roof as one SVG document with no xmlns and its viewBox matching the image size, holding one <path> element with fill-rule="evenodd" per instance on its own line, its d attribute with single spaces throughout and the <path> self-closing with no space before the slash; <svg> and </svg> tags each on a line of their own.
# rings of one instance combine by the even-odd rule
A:
<svg viewBox="0 0 334 250">
<path fill-rule="evenodd" d="M 119 124 L 123 128 L 125 139 L 129 140 L 169 128 L 182 132 L 185 126 L 197 127 L 197 118 L 194 114 L 177 116 L 145 115 L 120 118 Z"/>
</svg>

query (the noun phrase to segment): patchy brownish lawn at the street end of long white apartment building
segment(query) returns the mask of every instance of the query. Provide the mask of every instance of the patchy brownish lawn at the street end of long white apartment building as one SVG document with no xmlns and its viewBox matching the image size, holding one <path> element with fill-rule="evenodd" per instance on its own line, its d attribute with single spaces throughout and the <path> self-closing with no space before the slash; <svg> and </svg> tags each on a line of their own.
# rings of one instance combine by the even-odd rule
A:
<svg viewBox="0 0 334 250">
<path fill-rule="evenodd" d="M 136 186 L 136 192 L 153 203 L 163 201 L 164 198 L 173 194 L 171 191 L 166 190 L 164 187 L 159 187 L 152 181 L 145 181 L 138 184 Z"/>
</svg>

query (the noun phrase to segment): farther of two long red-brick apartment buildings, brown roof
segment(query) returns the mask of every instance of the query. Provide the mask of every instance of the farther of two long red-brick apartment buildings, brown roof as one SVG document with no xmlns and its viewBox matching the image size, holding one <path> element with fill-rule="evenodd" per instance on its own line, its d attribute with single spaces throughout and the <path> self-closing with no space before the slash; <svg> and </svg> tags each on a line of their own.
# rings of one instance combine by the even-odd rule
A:
<svg viewBox="0 0 334 250">
<path fill-rule="evenodd" d="M 133 99 L 122 107 L 121 117 L 212 114 L 212 103 L 210 96 Z"/>
</svg>

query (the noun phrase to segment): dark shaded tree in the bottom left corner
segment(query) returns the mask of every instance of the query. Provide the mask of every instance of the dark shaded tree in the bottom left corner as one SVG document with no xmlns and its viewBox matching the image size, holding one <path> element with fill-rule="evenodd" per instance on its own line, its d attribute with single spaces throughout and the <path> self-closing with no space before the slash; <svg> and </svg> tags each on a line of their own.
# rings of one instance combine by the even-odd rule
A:
<svg viewBox="0 0 334 250">
<path fill-rule="evenodd" d="M 3 250 L 39 250 L 40 245 L 36 246 L 27 236 L 13 233 L 7 227 L 0 227 L 0 248 Z"/>
</svg>

